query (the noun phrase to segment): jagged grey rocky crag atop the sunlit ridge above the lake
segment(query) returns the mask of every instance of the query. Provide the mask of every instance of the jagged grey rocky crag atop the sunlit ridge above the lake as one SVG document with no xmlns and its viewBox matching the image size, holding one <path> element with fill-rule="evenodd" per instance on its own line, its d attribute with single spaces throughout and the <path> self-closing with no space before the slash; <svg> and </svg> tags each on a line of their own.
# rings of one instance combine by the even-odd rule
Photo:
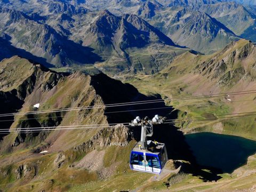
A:
<svg viewBox="0 0 256 192">
<path fill-rule="evenodd" d="M 197 65 L 194 71 L 211 80 L 217 80 L 220 86 L 235 85 L 242 78 L 250 78 L 253 81 L 254 65 L 246 66 L 243 63 L 252 62 L 255 57 L 255 45 L 249 42 L 241 48 L 233 47 L 234 43 L 230 43 L 212 59 Z"/>
</svg>

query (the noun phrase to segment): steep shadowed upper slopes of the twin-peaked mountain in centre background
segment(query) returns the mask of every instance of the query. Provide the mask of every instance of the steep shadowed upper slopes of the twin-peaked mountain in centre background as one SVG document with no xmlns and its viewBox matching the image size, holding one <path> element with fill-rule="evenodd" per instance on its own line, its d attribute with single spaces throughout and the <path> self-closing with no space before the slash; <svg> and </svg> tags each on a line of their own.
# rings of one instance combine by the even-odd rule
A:
<svg viewBox="0 0 256 192">
<path fill-rule="evenodd" d="M 116 50 L 144 47 L 149 43 L 175 46 L 170 38 L 137 17 L 137 15 L 125 15 L 121 18 L 107 10 L 99 14 L 97 20 L 92 23 L 85 34 L 84 44 L 87 46 L 94 44 L 96 49 L 97 46 L 104 48 L 108 44 L 116 46 Z"/>
</svg>

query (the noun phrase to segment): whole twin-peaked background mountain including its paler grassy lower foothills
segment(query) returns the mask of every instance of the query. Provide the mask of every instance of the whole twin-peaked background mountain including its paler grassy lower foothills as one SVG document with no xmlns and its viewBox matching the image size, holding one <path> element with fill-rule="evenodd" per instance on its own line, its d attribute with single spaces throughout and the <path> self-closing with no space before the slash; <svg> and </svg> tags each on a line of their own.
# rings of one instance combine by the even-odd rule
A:
<svg viewBox="0 0 256 192">
<path fill-rule="evenodd" d="M 81 38 L 84 46 L 92 47 L 105 60 L 98 67 L 103 71 L 112 70 L 112 73 L 125 68 L 146 69 L 151 73 L 168 63 L 158 59 L 172 60 L 176 54 L 186 51 L 137 15 L 117 17 L 106 10 L 98 15 Z M 159 46 L 162 48 L 157 48 Z"/>
</svg>

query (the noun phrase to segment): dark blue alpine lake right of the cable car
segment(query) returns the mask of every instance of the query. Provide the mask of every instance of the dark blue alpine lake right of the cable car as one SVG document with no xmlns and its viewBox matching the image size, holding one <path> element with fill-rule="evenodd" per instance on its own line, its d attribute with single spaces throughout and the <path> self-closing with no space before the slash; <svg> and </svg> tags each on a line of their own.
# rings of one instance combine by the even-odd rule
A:
<svg viewBox="0 0 256 192">
<path fill-rule="evenodd" d="M 246 164 L 247 158 L 256 153 L 256 141 L 242 137 L 204 132 L 185 138 L 199 165 L 226 173 Z"/>
</svg>

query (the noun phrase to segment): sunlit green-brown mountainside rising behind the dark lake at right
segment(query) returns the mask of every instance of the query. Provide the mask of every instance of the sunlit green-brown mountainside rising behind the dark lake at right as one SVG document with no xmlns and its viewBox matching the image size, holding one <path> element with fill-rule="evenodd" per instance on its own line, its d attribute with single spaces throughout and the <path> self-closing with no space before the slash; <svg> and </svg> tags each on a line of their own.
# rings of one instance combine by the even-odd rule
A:
<svg viewBox="0 0 256 192">
<path fill-rule="evenodd" d="M 163 97 L 169 98 L 190 98 L 193 95 L 255 90 L 255 53 L 255 44 L 242 39 L 230 43 L 225 49 L 212 55 L 184 53 L 154 77 L 138 77 L 139 81 L 133 81 L 133 78 L 129 77 L 127 79 L 130 80 L 127 82 L 132 83 L 138 89 L 141 87 L 139 89 L 141 92 L 154 90 L 153 93 L 161 93 Z M 191 118 L 191 122 L 178 124 L 185 132 L 216 131 L 255 139 L 254 117 L 221 120 L 224 114 L 239 116 L 240 113 L 255 111 L 256 108 L 253 105 L 255 92 L 234 94 L 230 98 L 227 95 L 223 94 L 213 98 L 205 96 L 200 101 L 196 98 L 173 101 L 172 105 L 183 111 L 180 118 L 185 116 Z M 207 118 L 212 118 L 212 121 L 207 121 Z M 206 120 L 200 124 L 193 123 L 193 119 Z M 237 123 L 236 128 L 230 125 L 233 121 Z M 243 126 L 245 122 L 246 131 Z M 218 126 L 215 126 L 218 123 L 222 127 L 221 131 L 218 130 Z"/>
</svg>

